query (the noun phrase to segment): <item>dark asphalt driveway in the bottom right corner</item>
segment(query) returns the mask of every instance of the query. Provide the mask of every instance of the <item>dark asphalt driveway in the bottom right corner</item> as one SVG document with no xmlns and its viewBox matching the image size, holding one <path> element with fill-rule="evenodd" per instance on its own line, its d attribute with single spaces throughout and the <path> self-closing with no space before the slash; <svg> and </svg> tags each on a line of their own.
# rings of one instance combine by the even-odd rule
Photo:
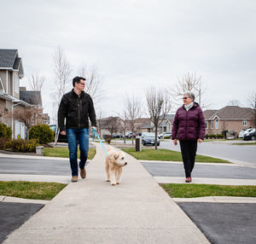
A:
<svg viewBox="0 0 256 244">
<path fill-rule="evenodd" d="M 178 203 L 213 244 L 256 243 L 256 204 Z"/>
</svg>

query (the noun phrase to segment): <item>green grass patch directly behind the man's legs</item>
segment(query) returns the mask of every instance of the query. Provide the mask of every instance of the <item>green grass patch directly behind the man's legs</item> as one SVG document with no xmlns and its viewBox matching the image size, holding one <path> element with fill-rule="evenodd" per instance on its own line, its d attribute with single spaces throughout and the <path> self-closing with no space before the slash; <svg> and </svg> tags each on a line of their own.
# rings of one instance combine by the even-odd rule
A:
<svg viewBox="0 0 256 244">
<path fill-rule="evenodd" d="M 88 160 L 92 160 L 96 154 L 95 148 L 89 148 Z M 68 148 L 44 148 L 44 156 L 48 157 L 61 157 L 68 158 L 69 151 Z M 80 151 L 78 149 L 78 158 L 80 157 Z"/>
</svg>

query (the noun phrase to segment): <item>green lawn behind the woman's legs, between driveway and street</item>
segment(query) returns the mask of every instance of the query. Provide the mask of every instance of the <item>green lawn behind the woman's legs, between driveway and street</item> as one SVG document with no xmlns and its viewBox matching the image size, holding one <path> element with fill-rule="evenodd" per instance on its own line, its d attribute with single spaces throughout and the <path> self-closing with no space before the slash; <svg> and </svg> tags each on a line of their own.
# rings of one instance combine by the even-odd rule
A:
<svg viewBox="0 0 256 244">
<path fill-rule="evenodd" d="M 167 149 L 143 149 L 142 152 L 136 152 L 134 148 L 123 148 L 123 151 L 127 154 L 131 154 L 137 160 L 160 160 L 160 161 L 182 161 L 182 155 L 180 152 L 167 150 Z M 196 162 L 207 163 L 230 163 L 227 160 L 220 160 L 203 155 L 196 155 Z"/>
</svg>

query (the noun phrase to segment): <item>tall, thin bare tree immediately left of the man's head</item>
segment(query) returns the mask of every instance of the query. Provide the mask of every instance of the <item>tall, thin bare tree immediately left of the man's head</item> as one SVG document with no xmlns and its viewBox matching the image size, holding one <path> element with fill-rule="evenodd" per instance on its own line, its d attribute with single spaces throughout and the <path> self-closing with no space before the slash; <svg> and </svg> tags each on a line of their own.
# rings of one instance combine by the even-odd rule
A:
<svg viewBox="0 0 256 244">
<path fill-rule="evenodd" d="M 54 54 L 54 73 L 55 73 L 55 87 L 56 90 L 51 93 L 51 96 L 54 99 L 54 111 L 55 111 L 55 121 L 57 121 L 56 118 L 56 111 L 58 107 L 60 106 L 61 103 L 61 97 L 65 94 L 67 91 L 67 84 L 70 82 L 70 75 L 71 75 L 71 67 L 67 61 L 66 55 L 59 47 L 58 49 L 55 50 Z M 56 132 L 55 132 L 55 143 L 58 140 L 59 136 L 59 129 L 58 125 L 56 125 Z"/>
</svg>

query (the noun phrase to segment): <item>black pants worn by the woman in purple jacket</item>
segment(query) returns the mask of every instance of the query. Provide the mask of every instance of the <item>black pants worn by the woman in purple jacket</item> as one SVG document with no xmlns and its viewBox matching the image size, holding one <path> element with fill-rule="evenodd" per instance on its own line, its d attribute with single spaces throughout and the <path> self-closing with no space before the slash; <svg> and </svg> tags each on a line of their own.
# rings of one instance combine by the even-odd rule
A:
<svg viewBox="0 0 256 244">
<path fill-rule="evenodd" d="M 195 166 L 197 141 L 179 141 L 179 144 L 183 155 L 183 165 L 186 177 L 191 177 L 191 172 Z"/>
</svg>

